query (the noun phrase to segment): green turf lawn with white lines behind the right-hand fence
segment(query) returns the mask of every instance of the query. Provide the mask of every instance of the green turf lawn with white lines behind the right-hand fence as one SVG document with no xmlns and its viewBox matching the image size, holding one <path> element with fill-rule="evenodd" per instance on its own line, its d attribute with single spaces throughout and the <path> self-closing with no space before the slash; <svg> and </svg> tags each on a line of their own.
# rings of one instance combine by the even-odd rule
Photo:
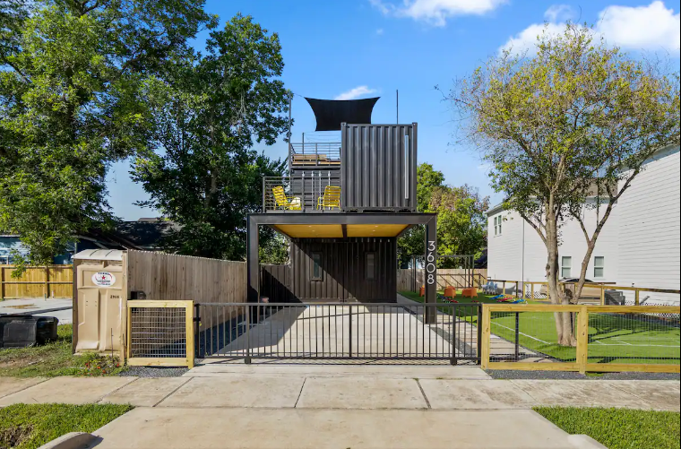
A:
<svg viewBox="0 0 681 449">
<path fill-rule="evenodd" d="M 418 293 L 401 291 L 401 295 L 423 302 Z M 460 303 L 470 298 L 457 296 Z M 496 300 L 478 293 L 481 303 L 495 303 Z M 530 303 L 536 302 L 529 300 Z M 451 307 L 438 307 L 451 314 Z M 458 315 L 477 324 L 478 316 L 470 308 L 462 308 Z M 522 312 L 519 315 L 519 343 L 522 347 L 535 350 L 564 361 L 576 359 L 576 348 L 557 344 L 554 315 L 546 312 Z M 515 314 L 495 312 L 492 314 L 492 333 L 507 341 L 515 341 Z M 678 321 L 642 319 L 627 315 L 589 315 L 589 362 L 590 363 L 658 363 L 678 364 L 681 358 L 681 332 Z"/>
</svg>

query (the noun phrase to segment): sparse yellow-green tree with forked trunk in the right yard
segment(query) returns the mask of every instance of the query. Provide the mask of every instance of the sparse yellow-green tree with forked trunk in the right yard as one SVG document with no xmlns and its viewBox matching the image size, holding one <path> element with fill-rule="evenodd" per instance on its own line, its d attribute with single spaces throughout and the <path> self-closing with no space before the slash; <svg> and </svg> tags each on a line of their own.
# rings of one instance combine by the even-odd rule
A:
<svg viewBox="0 0 681 449">
<path fill-rule="evenodd" d="M 561 227 L 576 220 L 587 251 L 573 301 L 579 299 L 600 231 L 617 200 L 659 148 L 679 143 L 679 75 L 634 60 L 589 28 L 538 38 L 537 55 L 496 56 L 448 95 L 467 141 L 491 165 L 504 207 L 518 212 L 547 248 L 547 282 L 558 289 Z M 587 201 L 594 198 L 595 201 Z M 591 228 L 584 213 L 599 208 Z M 574 345 L 570 314 L 556 314 L 558 341 Z"/>
</svg>

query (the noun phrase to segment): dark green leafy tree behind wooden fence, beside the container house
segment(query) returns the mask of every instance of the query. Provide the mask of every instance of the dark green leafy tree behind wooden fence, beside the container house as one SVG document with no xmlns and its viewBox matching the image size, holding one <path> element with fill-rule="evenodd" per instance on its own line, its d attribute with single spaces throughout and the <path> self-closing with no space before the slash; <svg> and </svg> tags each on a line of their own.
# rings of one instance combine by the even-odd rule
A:
<svg viewBox="0 0 681 449">
<path fill-rule="evenodd" d="M 260 209 L 262 177 L 284 168 L 252 148 L 273 144 L 288 127 L 280 51 L 277 34 L 239 14 L 211 32 L 205 55 L 178 60 L 147 83 L 160 151 L 136 160 L 134 179 L 151 195 L 142 204 L 180 225 L 168 250 L 246 255 L 246 214 Z M 261 237 L 265 246 L 272 233 Z"/>
</svg>

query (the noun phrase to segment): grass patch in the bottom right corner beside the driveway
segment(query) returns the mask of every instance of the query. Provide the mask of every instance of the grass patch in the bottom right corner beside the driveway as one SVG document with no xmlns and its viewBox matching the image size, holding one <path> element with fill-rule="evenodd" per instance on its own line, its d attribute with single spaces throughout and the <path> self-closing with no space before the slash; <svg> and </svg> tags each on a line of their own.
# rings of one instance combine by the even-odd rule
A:
<svg viewBox="0 0 681 449">
<path fill-rule="evenodd" d="M 679 414 L 673 411 L 536 407 L 568 434 L 586 434 L 608 449 L 678 449 Z"/>
</svg>

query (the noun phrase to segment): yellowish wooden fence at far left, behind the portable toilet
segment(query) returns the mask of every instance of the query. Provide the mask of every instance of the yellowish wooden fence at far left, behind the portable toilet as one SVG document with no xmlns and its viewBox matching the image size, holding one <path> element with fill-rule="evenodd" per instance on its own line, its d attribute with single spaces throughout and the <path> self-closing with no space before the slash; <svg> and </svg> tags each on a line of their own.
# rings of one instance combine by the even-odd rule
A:
<svg viewBox="0 0 681 449">
<path fill-rule="evenodd" d="M 73 265 L 30 266 L 13 278 L 13 265 L 0 265 L 0 301 L 13 298 L 73 298 Z"/>
</svg>

